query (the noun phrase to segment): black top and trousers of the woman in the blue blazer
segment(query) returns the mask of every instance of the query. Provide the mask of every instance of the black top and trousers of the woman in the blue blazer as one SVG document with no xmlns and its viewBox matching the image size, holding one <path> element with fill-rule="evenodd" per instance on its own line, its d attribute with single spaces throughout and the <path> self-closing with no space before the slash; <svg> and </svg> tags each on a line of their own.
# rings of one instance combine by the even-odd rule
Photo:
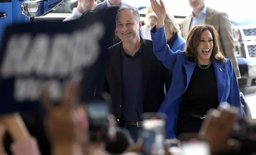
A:
<svg viewBox="0 0 256 155">
<path fill-rule="evenodd" d="M 192 115 L 205 115 L 209 109 L 218 106 L 217 81 L 213 64 L 207 69 L 196 65 L 188 88 L 182 95 L 176 135 L 184 132 L 198 132 L 203 119 L 192 117 Z"/>
</svg>

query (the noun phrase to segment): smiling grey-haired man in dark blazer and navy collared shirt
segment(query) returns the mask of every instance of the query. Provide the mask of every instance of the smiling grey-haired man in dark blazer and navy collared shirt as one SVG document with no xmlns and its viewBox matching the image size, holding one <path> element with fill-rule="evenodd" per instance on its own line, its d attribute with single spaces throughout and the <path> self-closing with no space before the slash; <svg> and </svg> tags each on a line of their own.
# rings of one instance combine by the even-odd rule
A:
<svg viewBox="0 0 256 155">
<path fill-rule="evenodd" d="M 111 58 L 105 75 L 105 91 L 112 99 L 111 111 L 118 126 L 130 131 L 137 141 L 140 115 L 157 112 L 169 90 L 170 75 L 153 54 L 153 43 L 140 37 L 139 12 L 122 7 L 116 17 L 121 42 L 109 47 Z"/>
</svg>

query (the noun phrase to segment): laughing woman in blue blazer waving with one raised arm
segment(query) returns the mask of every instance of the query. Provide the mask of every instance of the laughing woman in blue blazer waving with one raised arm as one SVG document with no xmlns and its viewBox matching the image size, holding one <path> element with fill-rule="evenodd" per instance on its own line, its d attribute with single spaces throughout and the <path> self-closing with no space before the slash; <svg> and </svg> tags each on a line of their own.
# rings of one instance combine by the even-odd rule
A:
<svg viewBox="0 0 256 155">
<path fill-rule="evenodd" d="M 168 115 L 167 138 L 198 132 L 206 112 L 223 102 L 242 115 L 239 87 L 233 65 L 219 51 L 218 33 L 211 25 L 194 26 L 185 51 L 172 51 L 165 37 L 165 6 L 151 0 L 157 25 L 151 30 L 153 52 L 173 72 L 172 83 L 159 112 Z"/>
</svg>

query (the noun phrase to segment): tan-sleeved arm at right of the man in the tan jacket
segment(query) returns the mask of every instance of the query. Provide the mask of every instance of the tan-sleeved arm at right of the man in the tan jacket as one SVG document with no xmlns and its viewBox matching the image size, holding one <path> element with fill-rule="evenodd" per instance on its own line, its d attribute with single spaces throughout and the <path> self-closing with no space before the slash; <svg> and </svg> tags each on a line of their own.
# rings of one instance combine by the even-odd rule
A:
<svg viewBox="0 0 256 155">
<path fill-rule="evenodd" d="M 235 75 L 237 76 L 237 78 L 241 78 L 239 67 L 237 64 L 237 58 L 235 56 L 235 47 L 234 47 L 234 40 L 232 36 L 231 23 L 229 21 L 229 16 L 227 15 L 227 13 L 221 13 L 219 23 L 220 23 L 219 36 L 221 38 L 220 40 L 223 47 L 223 51 L 221 52 L 224 52 L 227 58 L 231 60 L 234 66 Z"/>
</svg>

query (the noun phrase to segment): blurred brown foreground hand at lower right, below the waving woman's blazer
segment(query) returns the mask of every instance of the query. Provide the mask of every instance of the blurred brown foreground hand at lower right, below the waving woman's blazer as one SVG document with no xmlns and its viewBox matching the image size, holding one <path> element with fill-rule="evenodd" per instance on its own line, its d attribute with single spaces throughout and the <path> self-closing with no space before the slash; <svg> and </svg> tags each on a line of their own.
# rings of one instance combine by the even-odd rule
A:
<svg viewBox="0 0 256 155">
<path fill-rule="evenodd" d="M 238 110 L 227 107 L 210 110 L 199 132 L 200 138 L 206 140 L 211 148 L 211 154 L 225 153 L 239 147 L 236 140 L 230 139 L 233 125 L 239 116 Z"/>
</svg>

